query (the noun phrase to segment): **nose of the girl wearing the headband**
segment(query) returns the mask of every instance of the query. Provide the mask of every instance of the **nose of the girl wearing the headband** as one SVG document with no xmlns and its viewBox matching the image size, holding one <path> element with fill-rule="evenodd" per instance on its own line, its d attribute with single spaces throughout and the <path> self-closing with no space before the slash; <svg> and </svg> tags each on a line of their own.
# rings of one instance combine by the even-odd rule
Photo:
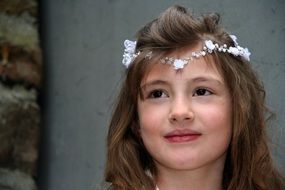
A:
<svg viewBox="0 0 285 190">
<path fill-rule="evenodd" d="M 194 119 L 191 102 L 186 98 L 177 98 L 171 104 L 169 120 L 174 123 L 184 123 Z"/>
</svg>

